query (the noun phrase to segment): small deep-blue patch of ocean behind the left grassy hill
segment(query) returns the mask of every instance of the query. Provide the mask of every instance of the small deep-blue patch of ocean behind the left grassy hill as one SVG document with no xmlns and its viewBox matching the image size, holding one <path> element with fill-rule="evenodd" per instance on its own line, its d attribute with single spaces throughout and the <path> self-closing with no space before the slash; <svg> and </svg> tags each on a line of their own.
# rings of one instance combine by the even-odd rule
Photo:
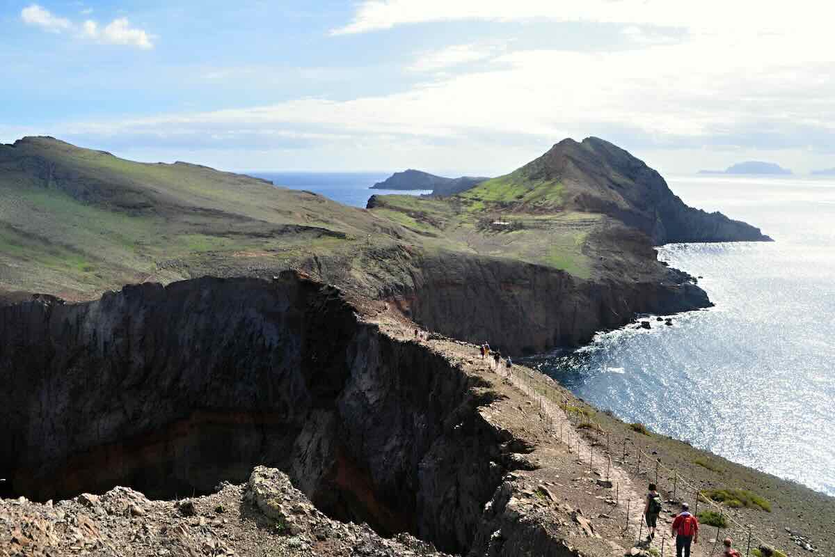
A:
<svg viewBox="0 0 835 557">
<path fill-rule="evenodd" d="M 431 194 L 432 190 L 369 190 L 377 182 L 386 180 L 391 172 L 247 172 L 246 174 L 271 180 L 275 185 L 283 185 L 291 190 L 307 190 L 325 195 L 353 207 L 365 206 L 372 195 Z"/>
</svg>

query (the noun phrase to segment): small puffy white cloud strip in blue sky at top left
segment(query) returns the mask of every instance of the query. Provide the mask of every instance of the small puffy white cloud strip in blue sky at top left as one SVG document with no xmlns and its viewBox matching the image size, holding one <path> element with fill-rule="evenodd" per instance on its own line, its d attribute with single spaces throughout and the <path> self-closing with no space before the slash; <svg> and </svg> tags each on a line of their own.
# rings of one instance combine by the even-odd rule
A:
<svg viewBox="0 0 835 557">
<path fill-rule="evenodd" d="M 84 10 L 83 13 L 89 12 Z M 91 39 L 101 44 L 121 44 L 144 49 L 154 48 L 150 35 L 143 29 L 131 27 L 127 18 L 114 19 L 104 27 L 101 27 L 98 22 L 92 19 L 77 24 L 66 18 L 54 16 L 38 4 L 23 8 L 20 17 L 24 23 L 36 25 L 53 33 L 71 31 L 79 37 Z"/>
</svg>

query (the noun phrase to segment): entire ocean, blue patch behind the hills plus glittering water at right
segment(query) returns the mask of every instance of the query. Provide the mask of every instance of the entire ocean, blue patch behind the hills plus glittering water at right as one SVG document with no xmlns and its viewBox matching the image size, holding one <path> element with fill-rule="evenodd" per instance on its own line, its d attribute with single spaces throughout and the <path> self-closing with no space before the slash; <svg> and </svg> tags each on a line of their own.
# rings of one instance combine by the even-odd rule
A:
<svg viewBox="0 0 835 557">
<path fill-rule="evenodd" d="M 364 207 L 385 174 L 255 173 Z M 835 495 L 835 180 L 674 177 L 688 205 L 773 243 L 677 244 L 659 256 L 716 306 L 526 359 L 619 418 Z"/>
</svg>

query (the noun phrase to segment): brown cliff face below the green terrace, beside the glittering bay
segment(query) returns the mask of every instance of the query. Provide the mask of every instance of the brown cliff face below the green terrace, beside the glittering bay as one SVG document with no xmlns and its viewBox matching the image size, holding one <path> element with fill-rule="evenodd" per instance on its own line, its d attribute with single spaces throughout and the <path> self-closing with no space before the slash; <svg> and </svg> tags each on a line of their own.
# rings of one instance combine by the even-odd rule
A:
<svg viewBox="0 0 835 557">
<path fill-rule="evenodd" d="M 423 261 L 413 290 L 391 299 L 429 329 L 490 342 L 505 355 L 580 346 L 639 311 L 711 306 L 691 277 L 675 270 L 658 280 L 593 283 L 542 266 L 453 254 Z"/>
</svg>

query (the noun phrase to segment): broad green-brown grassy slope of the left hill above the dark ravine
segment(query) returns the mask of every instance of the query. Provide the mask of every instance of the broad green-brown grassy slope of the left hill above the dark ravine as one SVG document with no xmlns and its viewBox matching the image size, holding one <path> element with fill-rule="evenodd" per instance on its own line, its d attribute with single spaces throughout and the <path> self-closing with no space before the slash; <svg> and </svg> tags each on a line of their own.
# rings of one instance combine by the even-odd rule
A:
<svg viewBox="0 0 835 557">
<path fill-rule="evenodd" d="M 398 229 L 319 195 L 201 166 L 140 164 L 47 138 L 0 146 L 4 290 L 86 298 L 218 261 L 245 270 L 345 253 Z"/>
</svg>

